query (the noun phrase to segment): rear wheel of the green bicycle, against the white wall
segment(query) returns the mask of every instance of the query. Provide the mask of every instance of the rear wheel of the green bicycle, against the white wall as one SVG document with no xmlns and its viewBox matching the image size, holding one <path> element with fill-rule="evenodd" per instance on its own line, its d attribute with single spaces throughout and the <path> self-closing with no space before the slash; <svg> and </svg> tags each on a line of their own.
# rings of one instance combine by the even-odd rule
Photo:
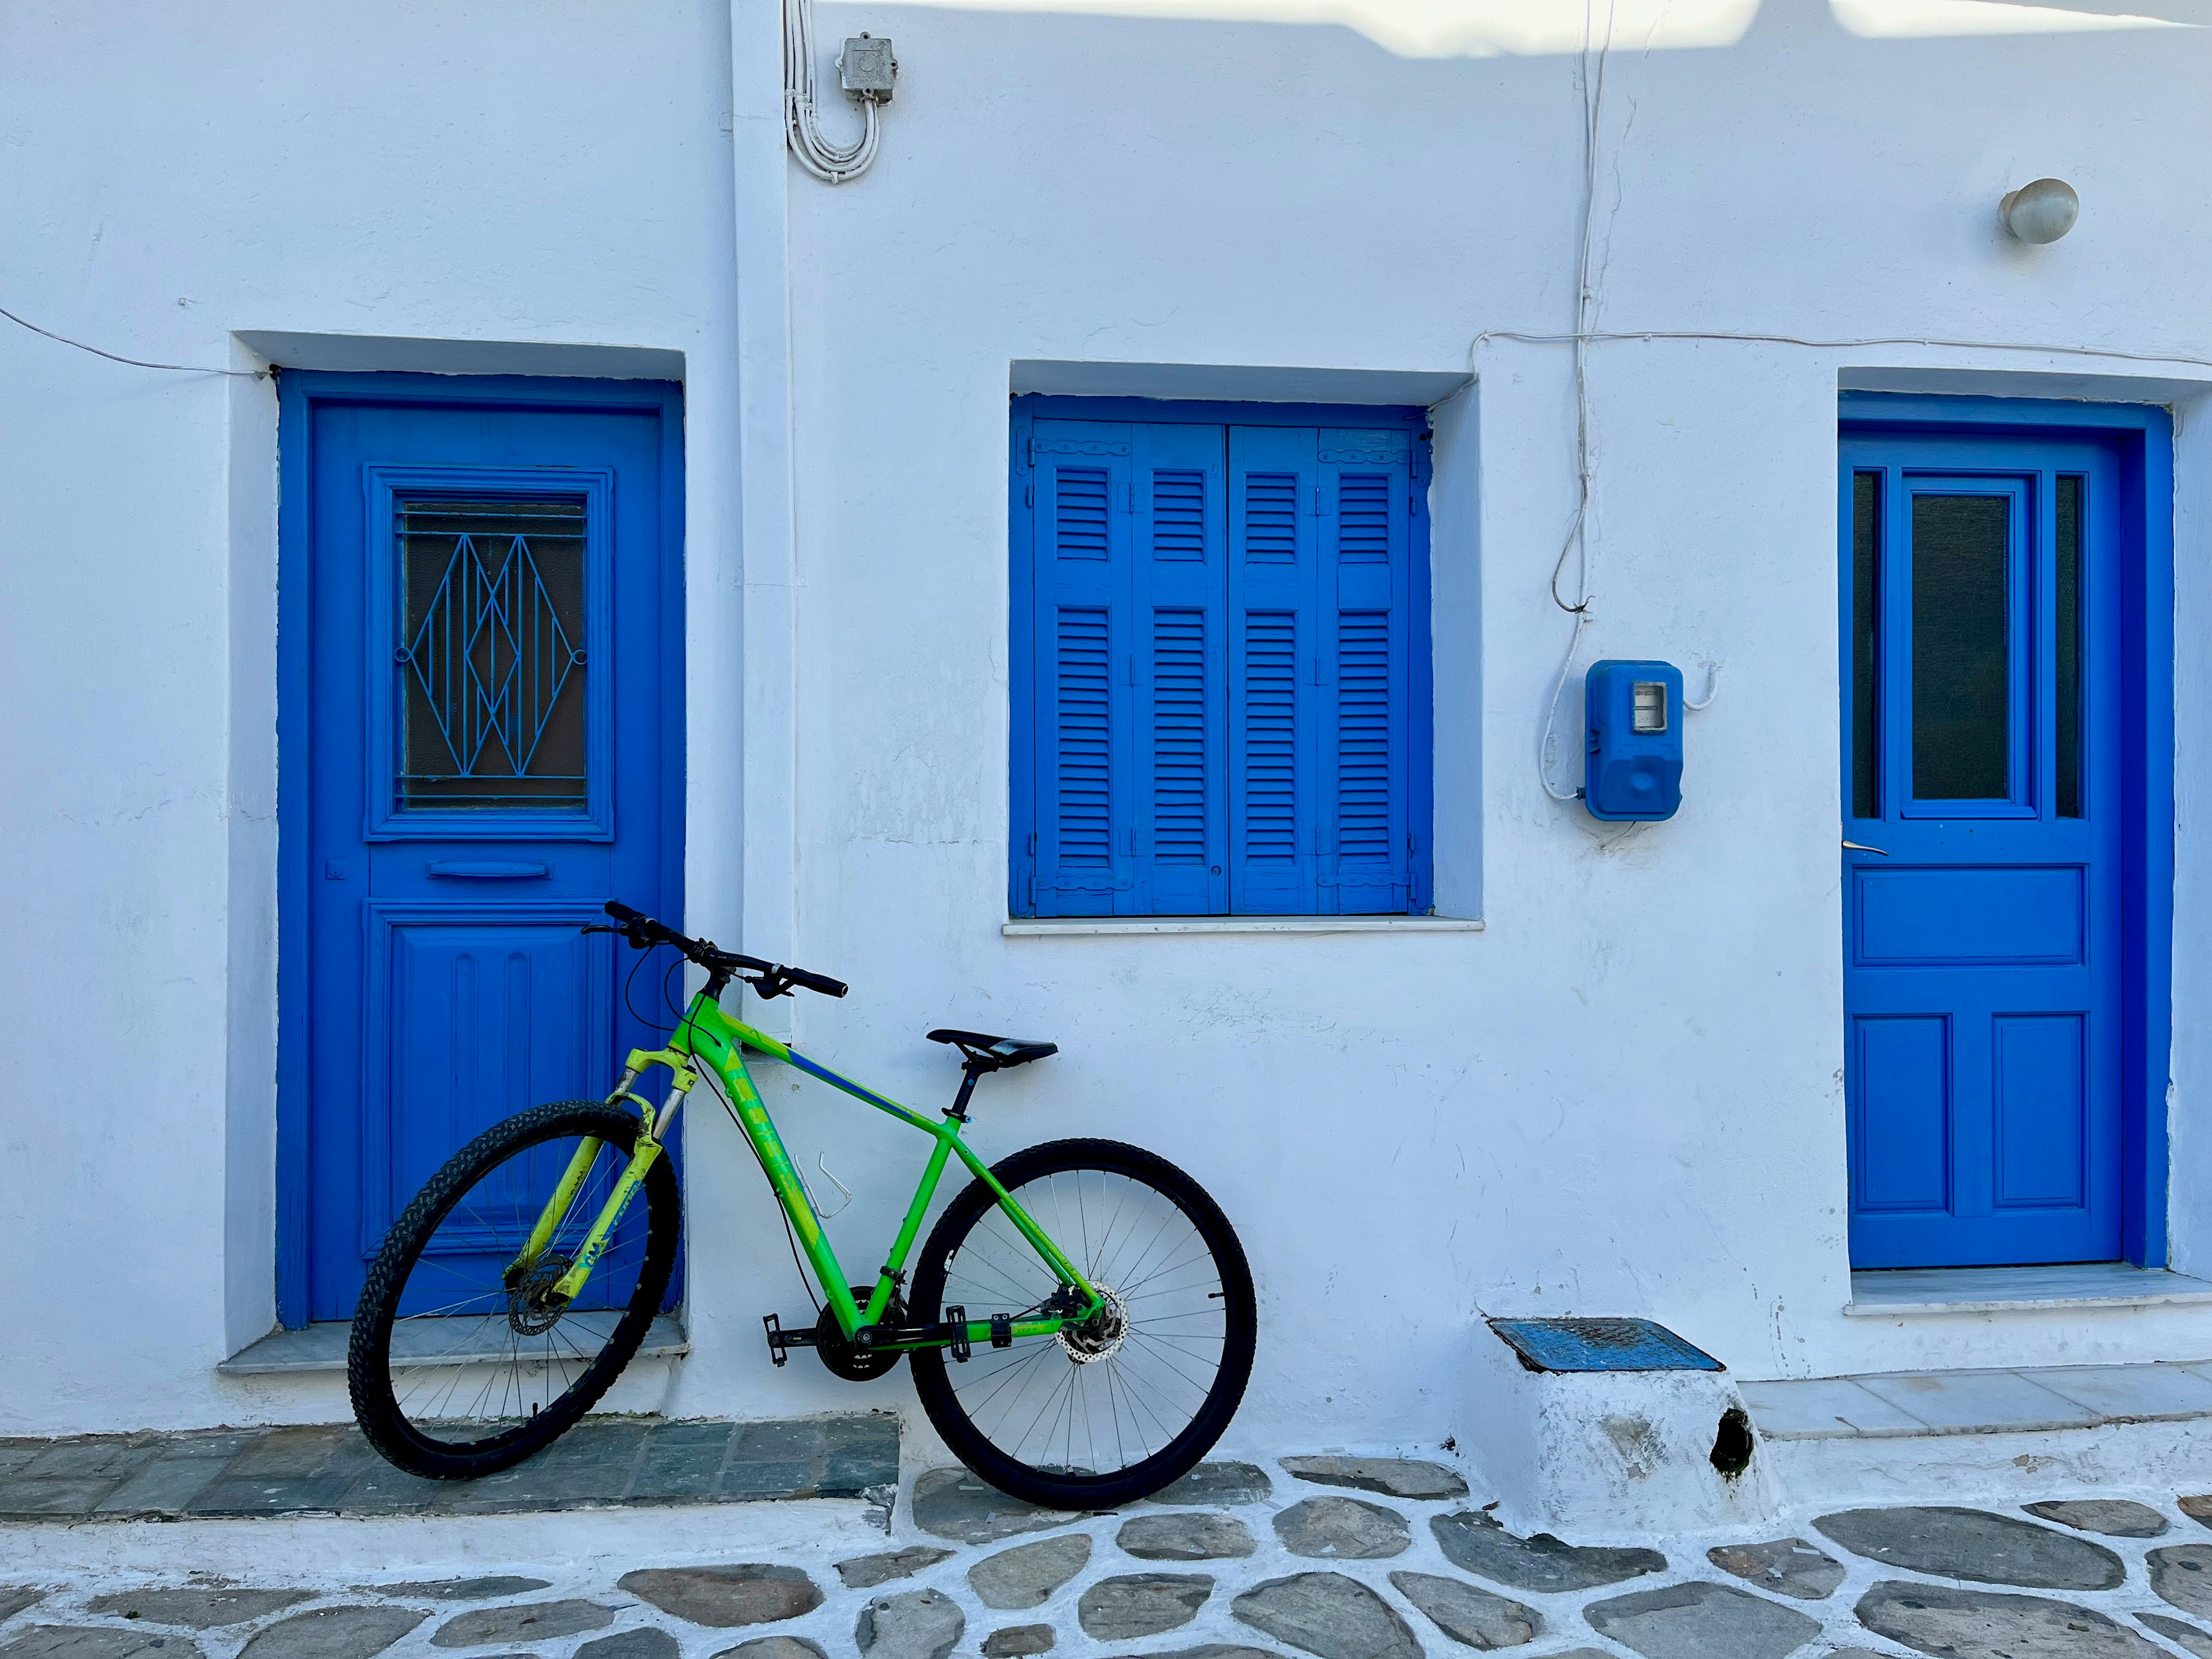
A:
<svg viewBox="0 0 2212 1659">
<path fill-rule="evenodd" d="M 1206 1190 L 1137 1146 L 1051 1141 L 991 1166 L 1106 1305 L 1057 1336 L 942 1347 L 909 1365 L 945 1444 L 1004 1493 L 1108 1509 L 1188 1473 L 1228 1429 L 1252 1376 L 1252 1270 Z M 914 1316 L 1035 1318 L 1057 1274 L 973 1181 L 914 1274 Z"/>
</svg>

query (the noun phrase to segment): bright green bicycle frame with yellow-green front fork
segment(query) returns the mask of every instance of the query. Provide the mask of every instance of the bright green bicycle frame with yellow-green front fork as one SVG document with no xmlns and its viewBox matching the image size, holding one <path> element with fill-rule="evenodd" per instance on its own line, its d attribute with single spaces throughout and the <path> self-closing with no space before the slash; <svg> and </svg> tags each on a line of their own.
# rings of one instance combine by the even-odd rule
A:
<svg viewBox="0 0 2212 1659">
<path fill-rule="evenodd" d="M 745 1071 L 745 1048 L 763 1053 L 770 1060 L 781 1060 L 787 1066 L 796 1066 L 810 1077 L 852 1095 L 858 1102 L 874 1106 L 880 1113 L 889 1113 L 902 1124 L 911 1124 L 933 1139 L 929 1148 L 929 1161 L 922 1166 L 920 1186 L 914 1190 L 914 1201 L 907 1206 L 907 1214 L 898 1225 L 898 1239 L 891 1243 L 891 1252 L 876 1276 L 876 1287 L 869 1292 L 867 1305 L 854 1301 L 852 1281 L 838 1265 L 836 1250 L 830 1248 L 830 1239 L 823 1234 L 821 1219 L 814 1214 L 814 1199 L 792 1166 L 790 1152 L 783 1148 L 783 1137 L 776 1133 L 774 1119 L 768 1115 L 768 1106 L 761 1102 L 761 1091 L 752 1082 L 752 1073 Z M 922 1230 L 922 1217 L 929 1212 L 929 1201 L 936 1197 L 938 1181 L 945 1175 L 945 1166 L 958 1157 L 978 1181 L 982 1181 L 998 1197 L 998 1208 L 1006 1212 L 1006 1219 L 1015 1225 L 1029 1248 L 1037 1252 L 1046 1267 L 1057 1274 L 1062 1290 L 1075 1290 L 1082 1294 L 1084 1303 L 1071 1314 L 1044 1314 L 1040 1318 L 1020 1318 L 1011 1325 L 1011 1336 L 1055 1336 L 1068 1325 L 1082 1325 L 1102 1305 L 1104 1298 L 1097 1290 L 1082 1276 L 1082 1272 L 1062 1254 L 1060 1245 L 1040 1228 L 1020 1203 L 998 1183 L 998 1177 L 984 1166 L 975 1152 L 960 1139 L 964 1128 L 964 1117 L 947 1115 L 942 1124 L 931 1124 L 920 1113 L 900 1106 L 894 1099 L 885 1099 L 872 1088 L 863 1088 L 849 1077 L 838 1077 L 827 1066 L 821 1066 L 805 1055 L 796 1053 L 787 1044 L 776 1042 L 765 1031 L 754 1031 L 743 1020 L 732 1020 L 721 1011 L 721 1004 L 712 995 L 699 991 L 692 998 L 690 1009 L 686 1009 L 684 1020 L 677 1024 L 675 1035 L 666 1048 L 633 1048 L 628 1060 L 624 1060 L 622 1082 L 606 1097 L 608 1104 L 628 1102 L 644 1113 L 644 1128 L 637 1137 L 635 1150 L 630 1152 L 630 1164 L 617 1177 L 613 1192 L 608 1192 L 606 1203 L 599 1206 L 599 1214 L 593 1221 L 582 1248 L 577 1250 L 571 1267 L 562 1274 L 553 1294 L 564 1301 L 575 1301 L 591 1279 L 591 1270 L 597 1265 L 599 1254 L 606 1250 L 606 1241 L 615 1232 L 615 1223 L 622 1221 L 622 1212 L 628 1208 L 637 1192 L 637 1186 L 646 1179 L 646 1170 L 653 1168 L 655 1159 L 661 1157 L 664 1141 L 668 1137 L 668 1126 L 675 1121 L 677 1110 L 684 1106 L 684 1097 L 690 1093 L 692 1084 L 699 1082 L 699 1062 L 706 1062 L 714 1071 L 714 1077 L 723 1086 L 723 1099 L 737 1126 L 752 1141 L 754 1155 L 761 1159 L 761 1170 L 768 1175 L 768 1186 L 776 1194 L 776 1203 L 783 1206 L 783 1214 L 790 1217 L 792 1232 L 799 1239 L 799 1248 L 805 1252 L 807 1265 L 821 1285 L 823 1301 L 836 1314 L 838 1329 L 852 1340 L 858 1332 L 869 1325 L 883 1323 L 885 1310 L 891 1296 L 898 1294 L 898 1283 L 905 1279 L 907 1256 L 914 1252 L 914 1241 Z M 637 1091 L 637 1079 L 644 1077 L 653 1066 L 666 1066 L 672 1073 L 670 1091 L 666 1104 L 653 1106 Z M 529 1274 L 531 1265 L 551 1243 L 560 1219 L 566 1214 L 577 1188 L 582 1188 L 584 1177 L 591 1172 L 591 1164 L 599 1152 L 599 1141 L 584 1139 L 575 1155 L 568 1159 L 568 1170 L 562 1175 L 560 1183 L 553 1188 L 553 1197 L 546 1199 L 544 1212 L 538 1217 L 538 1225 L 531 1230 L 529 1243 L 524 1243 L 522 1254 L 515 1256 L 507 1267 L 507 1283 L 520 1283 Z M 922 1340 L 896 1340 L 885 1343 L 880 1352 L 902 1352 L 914 1347 L 951 1347 L 962 1338 L 949 1332 Z M 989 1321 L 971 1321 L 967 1325 L 967 1343 L 989 1343 L 991 1325 Z"/>
</svg>

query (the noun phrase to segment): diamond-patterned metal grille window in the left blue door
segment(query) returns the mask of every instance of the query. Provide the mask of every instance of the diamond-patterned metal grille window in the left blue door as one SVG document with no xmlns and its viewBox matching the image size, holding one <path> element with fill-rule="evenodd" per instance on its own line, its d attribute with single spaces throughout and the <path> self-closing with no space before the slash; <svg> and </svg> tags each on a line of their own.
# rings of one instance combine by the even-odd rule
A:
<svg viewBox="0 0 2212 1659">
<path fill-rule="evenodd" d="M 398 502 L 398 810 L 586 810 L 584 549 L 580 500 Z"/>
</svg>

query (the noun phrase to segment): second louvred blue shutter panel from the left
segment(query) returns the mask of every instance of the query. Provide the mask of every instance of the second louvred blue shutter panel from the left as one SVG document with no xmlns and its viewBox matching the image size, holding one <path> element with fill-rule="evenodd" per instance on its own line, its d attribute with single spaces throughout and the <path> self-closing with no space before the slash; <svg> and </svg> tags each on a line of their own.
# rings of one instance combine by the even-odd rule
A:
<svg viewBox="0 0 2212 1659">
<path fill-rule="evenodd" d="M 1228 878 L 1228 465 L 1221 427 L 1133 429 L 1133 737 L 1146 916 L 1219 916 Z"/>
</svg>

